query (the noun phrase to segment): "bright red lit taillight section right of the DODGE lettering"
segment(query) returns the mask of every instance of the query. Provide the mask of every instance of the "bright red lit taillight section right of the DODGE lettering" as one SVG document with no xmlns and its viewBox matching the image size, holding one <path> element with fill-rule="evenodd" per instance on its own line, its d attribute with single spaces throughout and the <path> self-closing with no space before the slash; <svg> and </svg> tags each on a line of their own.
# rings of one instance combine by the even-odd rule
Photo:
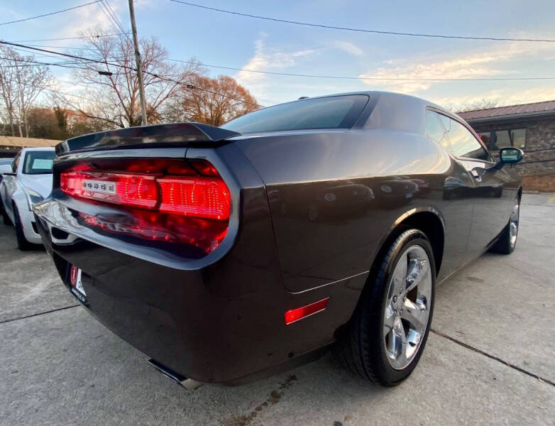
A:
<svg viewBox="0 0 555 426">
<path fill-rule="evenodd" d="M 229 219 L 231 199 L 223 180 L 214 178 L 158 178 L 162 190 L 160 212 Z"/>
</svg>

